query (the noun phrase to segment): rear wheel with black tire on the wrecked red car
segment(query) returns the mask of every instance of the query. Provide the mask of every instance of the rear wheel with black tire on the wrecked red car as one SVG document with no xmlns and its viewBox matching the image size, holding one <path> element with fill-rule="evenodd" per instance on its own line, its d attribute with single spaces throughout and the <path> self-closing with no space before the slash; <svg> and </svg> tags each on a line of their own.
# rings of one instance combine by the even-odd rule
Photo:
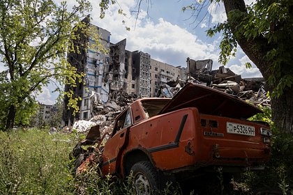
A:
<svg viewBox="0 0 293 195">
<path fill-rule="evenodd" d="M 158 189 L 158 171 L 149 161 L 137 162 L 131 168 L 137 195 L 156 194 Z"/>
</svg>

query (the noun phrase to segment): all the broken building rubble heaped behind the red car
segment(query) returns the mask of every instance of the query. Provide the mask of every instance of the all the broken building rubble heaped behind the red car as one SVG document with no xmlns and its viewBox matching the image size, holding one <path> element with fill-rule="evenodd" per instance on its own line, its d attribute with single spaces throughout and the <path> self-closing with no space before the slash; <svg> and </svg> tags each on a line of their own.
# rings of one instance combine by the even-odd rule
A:
<svg viewBox="0 0 293 195">
<path fill-rule="evenodd" d="M 189 75 L 186 81 L 177 79 L 169 81 L 158 89 L 158 98 L 172 98 L 187 83 L 201 84 L 234 95 L 241 100 L 249 101 L 255 105 L 270 106 L 270 98 L 266 96 L 266 88 L 263 78 L 242 79 L 229 68 L 221 66 L 218 70 L 211 70 L 212 61 L 191 61 Z M 111 132 L 114 118 L 123 109 L 135 100 L 137 95 L 129 95 L 123 89 L 112 90 L 109 100 L 103 102 L 98 93 L 91 95 L 93 118 L 91 120 L 79 120 L 73 125 L 77 132 L 86 132 L 93 125 L 100 126 L 100 134 Z"/>
</svg>

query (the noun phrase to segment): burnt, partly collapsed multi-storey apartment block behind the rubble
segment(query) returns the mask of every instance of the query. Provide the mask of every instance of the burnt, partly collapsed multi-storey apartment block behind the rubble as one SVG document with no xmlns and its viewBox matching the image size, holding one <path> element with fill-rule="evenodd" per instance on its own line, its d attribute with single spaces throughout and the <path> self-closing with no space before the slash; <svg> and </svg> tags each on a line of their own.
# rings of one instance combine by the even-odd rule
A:
<svg viewBox="0 0 293 195">
<path fill-rule="evenodd" d="M 74 44 L 79 52 L 68 53 L 68 62 L 85 76 L 74 88 L 66 85 L 65 91 L 72 90 L 82 100 L 77 103 L 79 113 L 73 115 L 72 109 L 68 109 L 68 97 L 64 98 L 63 125 L 92 118 L 93 104 L 105 104 L 114 91 L 122 90 L 138 98 L 155 97 L 160 85 L 185 77 L 186 68 L 153 60 L 144 52 L 130 52 L 126 50 L 126 39 L 113 44 L 110 31 L 90 24 L 88 18 L 84 22 L 98 35 L 103 49 L 96 47 L 96 39 L 91 35 L 87 37 L 77 31 L 80 39 L 74 40 Z"/>
</svg>

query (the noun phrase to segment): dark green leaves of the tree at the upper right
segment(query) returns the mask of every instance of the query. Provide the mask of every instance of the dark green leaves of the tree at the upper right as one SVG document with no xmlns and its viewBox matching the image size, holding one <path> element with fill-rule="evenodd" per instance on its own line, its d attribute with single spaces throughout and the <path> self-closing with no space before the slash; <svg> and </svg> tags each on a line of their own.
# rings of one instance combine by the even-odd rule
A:
<svg viewBox="0 0 293 195">
<path fill-rule="evenodd" d="M 207 31 L 209 36 L 222 32 L 219 62 L 224 65 L 230 56 L 234 56 L 236 41 L 245 39 L 255 41 L 250 45 L 252 51 L 265 51 L 262 61 L 269 64 L 272 72 L 268 81 L 272 86 L 272 95 L 279 97 L 293 84 L 292 49 L 293 46 L 293 1 L 262 0 L 246 6 L 246 11 L 232 10 L 227 14 L 227 21 Z M 259 54 L 262 55 L 262 54 Z M 257 66 L 259 64 L 255 62 Z M 247 68 L 251 67 L 246 65 Z M 264 73 L 264 72 L 262 72 Z"/>
</svg>

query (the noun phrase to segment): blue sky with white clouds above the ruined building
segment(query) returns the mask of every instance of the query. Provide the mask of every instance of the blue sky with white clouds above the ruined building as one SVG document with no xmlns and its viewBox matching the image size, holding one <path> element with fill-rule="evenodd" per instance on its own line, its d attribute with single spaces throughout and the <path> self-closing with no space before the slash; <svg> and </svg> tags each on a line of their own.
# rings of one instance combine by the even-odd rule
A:
<svg viewBox="0 0 293 195">
<path fill-rule="evenodd" d="M 54 1 L 60 2 L 60 0 Z M 190 11 L 181 10 L 183 6 L 193 2 L 190 0 L 144 0 L 138 17 L 135 13 L 136 0 L 118 0 L 118 3 L 110 6 L 103 20 L 100 19 L 99 1 L 90 1 L 93 6 L 90 13 L 91 23 L 110 31 L 111 42 L 116 43 L 126 38 L 126 49 L 147 52 L 151 54 L 152 59 L 174 66 L 186 67 L 188 57 L 194 60 L 212 59 L 213 69 L 218 69 L 220 66 L 218 56 L 221 36 L 218 34 L 210 38 L 206 36 L 206 30 L 226 20 L 223 4 L 217 3 L 204 8 L 199 19 L 201 20 L 204 15 L 206 17 L 198 24 L 198 20 L 195 22 L 195 17 L 191 16 Z M 73 0 L 67 2 L 69 8 L 75 4 Z M 126 13 L 126 16 L 118 14 L 119 8 Z M 123 20 L 125 25 L 122 24 Z M 126 26 L 130 27 L 130 31 L 126 31 Z M 247 62 L 251 61 L 239 47 L 236 56 L 227 64 L 227 68 L 243 78 L 262 77 L 253 63 L 253 68 L 246 69 Z M 3 67 L 0 65 L 1 70 Z M 58 93 L 52 93 L 52 91 L 54 91 L 52 84 L 43 87 L 43 93 L 38 95 L 37 100 L 45 104 L 53 104 Z"/>
</svg>

